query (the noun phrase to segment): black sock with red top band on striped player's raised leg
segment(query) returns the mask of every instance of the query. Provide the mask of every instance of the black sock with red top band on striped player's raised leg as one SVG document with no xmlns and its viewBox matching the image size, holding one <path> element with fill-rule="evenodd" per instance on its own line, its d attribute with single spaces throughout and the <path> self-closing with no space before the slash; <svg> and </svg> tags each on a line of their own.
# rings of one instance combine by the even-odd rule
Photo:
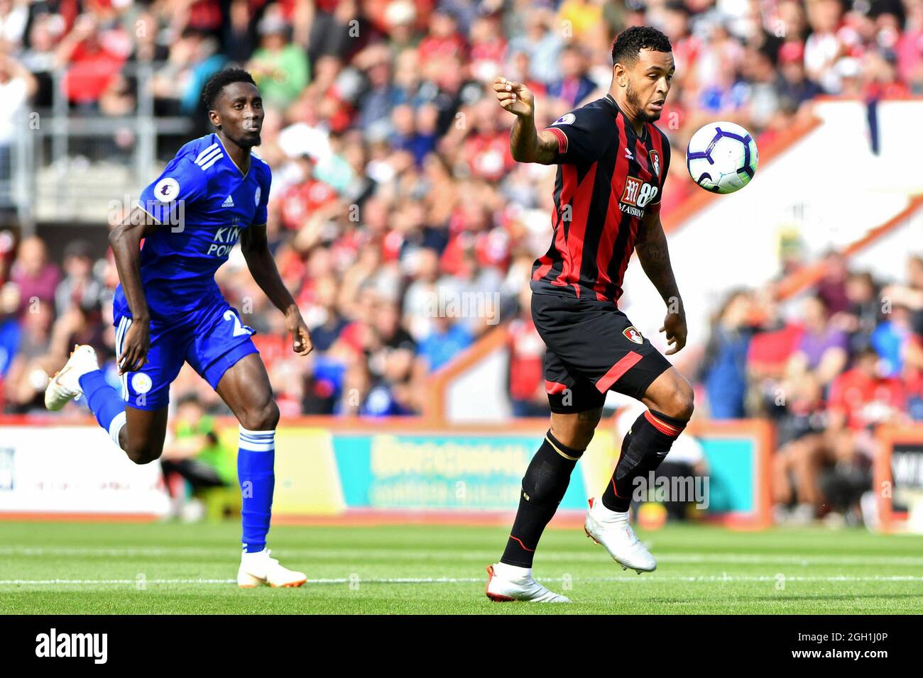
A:
<svg viewBox="0 0 923 678">
<path fill-rule="evenodd" d="M 629 510 L 634 479 L 660 466 L 686 423 L 653 410 L 641 414 L 622 441 L 616 470 L 603 493 L 603 506 L 611 511 Z"/>
</svg>

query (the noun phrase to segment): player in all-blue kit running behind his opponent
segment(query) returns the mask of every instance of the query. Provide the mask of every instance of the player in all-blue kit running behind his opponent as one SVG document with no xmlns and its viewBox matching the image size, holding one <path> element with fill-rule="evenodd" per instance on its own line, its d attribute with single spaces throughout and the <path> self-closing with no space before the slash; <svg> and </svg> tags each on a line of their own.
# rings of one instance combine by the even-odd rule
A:
<svg viewBox="0 0 923 678">
<path fill-rule="evenodd" d="M 109 236 L 121 282 L 113 319 L 122 392 L 109 386 L 95 351 L 83 345 L 54 375 L 45 405 L 60 410 L 82 394 L 115 444 L 147 464 L 161 456 L 170 384 L 184 362 L 192 365 L 240 422 L 244 549 L 237 584 L 296 587 L 306 575 L 280 565 L 266 548 L 279 408 L 250 339 L 254 330 L 214 280 L 238 240 L 254 280 L 285 315 L 294 352 L 313 347 L 267 244 L 270 167 L 250 150 L 260 144 L 263 123 L 256 83 L 246 71 L 227 69 L 211 77 L 202 97 L 217 131 L 179 149 Z"/>
</svg>

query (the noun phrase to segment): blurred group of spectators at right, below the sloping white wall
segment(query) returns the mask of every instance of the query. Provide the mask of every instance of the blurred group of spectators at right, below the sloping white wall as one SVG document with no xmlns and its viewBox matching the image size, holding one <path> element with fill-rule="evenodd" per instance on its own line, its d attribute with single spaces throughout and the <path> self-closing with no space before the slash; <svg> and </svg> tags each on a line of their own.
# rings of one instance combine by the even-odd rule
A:
<svg viewBox="0 0 923 678">
<path fill-rule="evenodd" d="M 701 399 L 713 419 L 776 424 L 777 520 L 857 524 L 881 453 L 876 427 L 923 421 L 923 256 L 907 259 L 901 280 L 876 280 L 836 254 L 822 271 L 785 309 L 773 284 L 728 294 L 701 361 Z"/>
</svg>

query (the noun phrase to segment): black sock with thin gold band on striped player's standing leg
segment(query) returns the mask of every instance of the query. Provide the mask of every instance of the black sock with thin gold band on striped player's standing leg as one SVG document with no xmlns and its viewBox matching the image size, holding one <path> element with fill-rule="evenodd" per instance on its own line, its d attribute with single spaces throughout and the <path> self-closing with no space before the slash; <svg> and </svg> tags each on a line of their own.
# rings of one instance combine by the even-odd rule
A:
<svg viewBox="0 0 923 678">
<path fill-rule="evenodd" d="M 545 441 L 529 463 L 522 477 L 520 507 L 509 533 L 501 563 L 532 567 L 532 559 L 545 525 L 557 511 L 570 483 L 570 471 L 577 465 L 583 450 L 561 444 L 548 431 Z"/>
</svg>

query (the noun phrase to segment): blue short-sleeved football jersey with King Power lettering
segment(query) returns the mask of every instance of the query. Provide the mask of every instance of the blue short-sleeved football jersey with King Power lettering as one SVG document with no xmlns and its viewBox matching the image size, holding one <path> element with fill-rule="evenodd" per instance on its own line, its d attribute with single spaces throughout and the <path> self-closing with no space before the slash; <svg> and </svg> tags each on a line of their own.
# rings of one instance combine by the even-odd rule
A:
<svg viewBox="0 0 923 678">
<path fill-rule="evenodd" d="M 246 172 L 216 134 L 188 142 L 141 193 L 138 207 L 162 224 L 141 247 L 141 284 L 152 319 L 186 315 L 221 292 L 215 271 L 251 225 L 266 223 L 272 174 L 250 154 Z M 122 285 L 114 312 L 130 315 Z"/>
</svg>

